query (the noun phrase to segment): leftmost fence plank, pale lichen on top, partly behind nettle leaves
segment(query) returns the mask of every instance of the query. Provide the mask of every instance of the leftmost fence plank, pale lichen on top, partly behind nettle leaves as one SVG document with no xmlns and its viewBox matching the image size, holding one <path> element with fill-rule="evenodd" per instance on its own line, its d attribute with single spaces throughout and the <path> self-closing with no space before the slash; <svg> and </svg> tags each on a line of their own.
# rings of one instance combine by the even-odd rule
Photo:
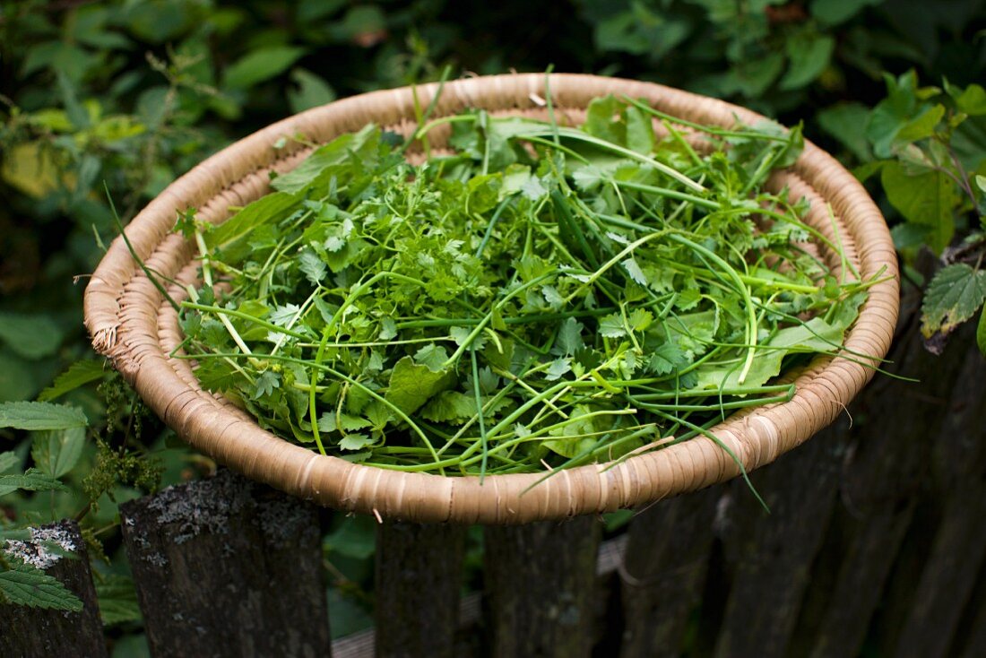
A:
<svg viewBox="0 0 986 658">
<path fill-rule="evenodd" d="M 65 520 L 34 528 L 31 534 L 32 540 L 9 542 L 4 552 L 59 580 L 82 600 L 82 612 L 0 604 L 0 655 L 106 656 L 96 588 L 79 526 Z M 58 548 L 52 550 L 49 543 Z M 66 554 L 59 554 L 62 551 Z"/>
</svg>

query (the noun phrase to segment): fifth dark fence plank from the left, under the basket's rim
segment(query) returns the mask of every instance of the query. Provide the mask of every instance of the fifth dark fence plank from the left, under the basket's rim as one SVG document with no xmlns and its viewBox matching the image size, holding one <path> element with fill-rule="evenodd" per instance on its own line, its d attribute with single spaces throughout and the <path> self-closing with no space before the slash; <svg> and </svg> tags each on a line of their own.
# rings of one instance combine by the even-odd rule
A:
<svg viewBox="0 0 986 658">
<path fill-rule="evenodd" d="M 621 656 L 678 655 L 705 586 L 722 493 L 716 486 L 663 500 L 634 517 L 620 570 Z"/>
</svg>

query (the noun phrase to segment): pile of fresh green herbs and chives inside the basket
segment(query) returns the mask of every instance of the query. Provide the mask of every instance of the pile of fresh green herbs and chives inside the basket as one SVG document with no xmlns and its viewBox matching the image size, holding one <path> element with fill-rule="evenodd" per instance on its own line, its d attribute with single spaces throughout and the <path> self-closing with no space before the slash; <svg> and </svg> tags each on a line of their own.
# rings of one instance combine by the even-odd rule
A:
<svg viewBox="0 0 986 658">
<path fill-rule="evenodd" d="M 764 188 L 800 129 L 612 97 L 578 129 L 549 113 L 369 125 L 222 225 L 188 213 L 203 285 L 176 355 L 281 436 L 444 475 L 616 460 L 790 400 L 774 378 L 838 351 L 868 285 Z"/>
</svg>

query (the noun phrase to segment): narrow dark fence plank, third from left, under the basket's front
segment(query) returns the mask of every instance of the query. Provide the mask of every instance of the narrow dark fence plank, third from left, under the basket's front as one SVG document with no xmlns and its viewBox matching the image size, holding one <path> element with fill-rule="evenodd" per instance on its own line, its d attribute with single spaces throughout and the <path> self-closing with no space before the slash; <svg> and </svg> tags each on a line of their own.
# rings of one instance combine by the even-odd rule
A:
<svg viewBox="0 0 986 658">
<path fill-rule="evenodd" d="M 387 521 L 377 532 L 378 656 L 457 655 L 465 527 Z"/>
</svg>

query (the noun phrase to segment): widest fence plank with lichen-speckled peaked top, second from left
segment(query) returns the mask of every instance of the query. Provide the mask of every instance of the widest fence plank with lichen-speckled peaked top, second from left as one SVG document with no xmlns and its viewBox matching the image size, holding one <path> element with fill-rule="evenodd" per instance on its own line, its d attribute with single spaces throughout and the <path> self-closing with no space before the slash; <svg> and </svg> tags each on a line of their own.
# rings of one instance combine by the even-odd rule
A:
<svg viewBox="0 0 986 658">
<path fill-rule="evenodd" d="M 152 655 L 329 655 L 314 506 L 221 471 L 120 514 Z"/>
</svg>

